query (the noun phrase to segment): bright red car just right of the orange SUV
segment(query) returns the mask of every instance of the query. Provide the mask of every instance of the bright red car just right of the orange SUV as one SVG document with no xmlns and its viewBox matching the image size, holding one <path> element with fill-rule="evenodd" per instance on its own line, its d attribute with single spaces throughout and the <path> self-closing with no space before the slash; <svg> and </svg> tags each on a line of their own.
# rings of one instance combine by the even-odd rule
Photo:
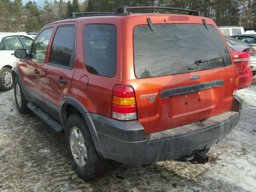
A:
<svg viewBox="0 0 256 192">
<path fill-rule="evenodd" d="M 231 47 L 230 50 L 239 73 L 238 90 L 247 88 L 252 82 L 250 55 L 247 52 L 236 51 Z"/>
</svg>

